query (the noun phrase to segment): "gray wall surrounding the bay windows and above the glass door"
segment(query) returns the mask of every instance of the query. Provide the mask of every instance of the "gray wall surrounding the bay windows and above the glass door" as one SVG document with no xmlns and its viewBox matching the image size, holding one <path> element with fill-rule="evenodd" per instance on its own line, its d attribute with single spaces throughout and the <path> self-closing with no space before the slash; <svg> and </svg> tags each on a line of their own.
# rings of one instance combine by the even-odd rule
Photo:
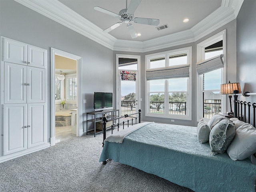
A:
<svg viewBox="0 0 256 192">
<path fill-rule="evenodd" d="M 142 120 L 143 121 L 154 121 L 154 122 L 161 122 L 161 123 L 168 123 L 168 124 L 180 124 L 186 126 L 197 126 L 197 72 L 196 72 L 196 45 L 211 36 L 223 31 L 226 29 L 226 48 L 227 48 L 227 74 L 226 74 L 226 81 L 230 80 L 230 82 L 236 82 L 236 20 L 229 22 L 228 24 L 220 27 L 218 30 L 204 36 L 200 40 L 197 40 L 194 43 L 183 44 L 179 46 L 174 46 L 170 48 L 145 52 L 145 53 L 131 53 L 131 52 L 114 52 L 115 54 L 135 54 L 141 56 L 141 98 L 142 101 L 145 101 L 145 70 L 146 70 L 146 62 L 145 62 L 145 55 L 153 54 L 158 52 L 164 52 L 168 50 L 174 50 L 178 48 L 184 48 L 188 46 L 192 46 L 192 120 L 178 120 L 175 119 L 175 122 L 171 122 L 169 118 L 153 118 L 153 117 L 146 117 L 144 111 L 145 109 L 145 102 L 141 103 L 142 109 Z M 228 98 L 227 98 L 228 99 Z M 227 110 L 230 108 L 228 100 L 227 100 Z M 172 118 L 173 119 L 173 118 Z"/>
</svg>

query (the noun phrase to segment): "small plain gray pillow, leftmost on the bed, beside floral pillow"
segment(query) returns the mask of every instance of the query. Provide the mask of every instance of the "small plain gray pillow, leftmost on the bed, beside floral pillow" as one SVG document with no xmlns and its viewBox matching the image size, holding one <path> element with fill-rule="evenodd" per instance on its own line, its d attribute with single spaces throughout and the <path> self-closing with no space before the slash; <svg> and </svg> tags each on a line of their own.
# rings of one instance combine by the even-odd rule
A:
<svg viewBox="0 0 256 192">
<path fill-rule="evenodd" d="M 200 143 L 206 143 L 209 141 L 209 135 L 211 128 L 208 126 L 207 122 L 204 119 L 201 119 L 196 128 L 196 133 Z"/>
</svg>

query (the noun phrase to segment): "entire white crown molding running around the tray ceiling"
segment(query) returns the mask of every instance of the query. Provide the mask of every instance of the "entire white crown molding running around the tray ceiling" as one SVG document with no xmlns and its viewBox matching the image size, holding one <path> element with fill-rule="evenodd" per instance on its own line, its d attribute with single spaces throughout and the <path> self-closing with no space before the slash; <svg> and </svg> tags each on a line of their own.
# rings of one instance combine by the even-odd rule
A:
<svg viewBox="0 0 256 192">
<path fill-rule="evenodd" d="M 149 52 L 195 42 L 234 20 L 244 0 L 222 0 L 222 5 L 190 30 L 154 38 L 144 42 L 118 40 L 89 22 L 58 0 L 15 0 L 16 2 L 90 38 L 114 51 Z"/>
</svg>

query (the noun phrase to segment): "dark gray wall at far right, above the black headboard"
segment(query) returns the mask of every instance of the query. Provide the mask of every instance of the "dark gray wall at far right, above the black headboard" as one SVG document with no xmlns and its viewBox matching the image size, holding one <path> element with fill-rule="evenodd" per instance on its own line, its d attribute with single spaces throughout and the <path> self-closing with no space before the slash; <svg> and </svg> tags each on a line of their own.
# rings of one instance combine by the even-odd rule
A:
<svg viewBox="0 0 256 192">
<path fill-rule="evenodd" d="M 256 92 L 256 1 L 245 0 L 237 16 L 237 80 L 242 91 Z M 242 101 L 256 102 L 256 96 Z"/>
</svg>

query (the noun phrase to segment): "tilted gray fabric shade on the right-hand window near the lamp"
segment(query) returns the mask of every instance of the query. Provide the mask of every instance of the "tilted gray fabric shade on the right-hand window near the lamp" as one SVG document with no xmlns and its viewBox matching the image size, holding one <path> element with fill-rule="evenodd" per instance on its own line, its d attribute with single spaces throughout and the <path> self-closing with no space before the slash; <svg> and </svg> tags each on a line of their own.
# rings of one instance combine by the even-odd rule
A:
<svg viewBox="0 0 256 192">
<path fill-rule="evenodd" d="M 198 75 L 224 67 L 223 54 L 209 58 L 196 64 Z"/>
</svg>

